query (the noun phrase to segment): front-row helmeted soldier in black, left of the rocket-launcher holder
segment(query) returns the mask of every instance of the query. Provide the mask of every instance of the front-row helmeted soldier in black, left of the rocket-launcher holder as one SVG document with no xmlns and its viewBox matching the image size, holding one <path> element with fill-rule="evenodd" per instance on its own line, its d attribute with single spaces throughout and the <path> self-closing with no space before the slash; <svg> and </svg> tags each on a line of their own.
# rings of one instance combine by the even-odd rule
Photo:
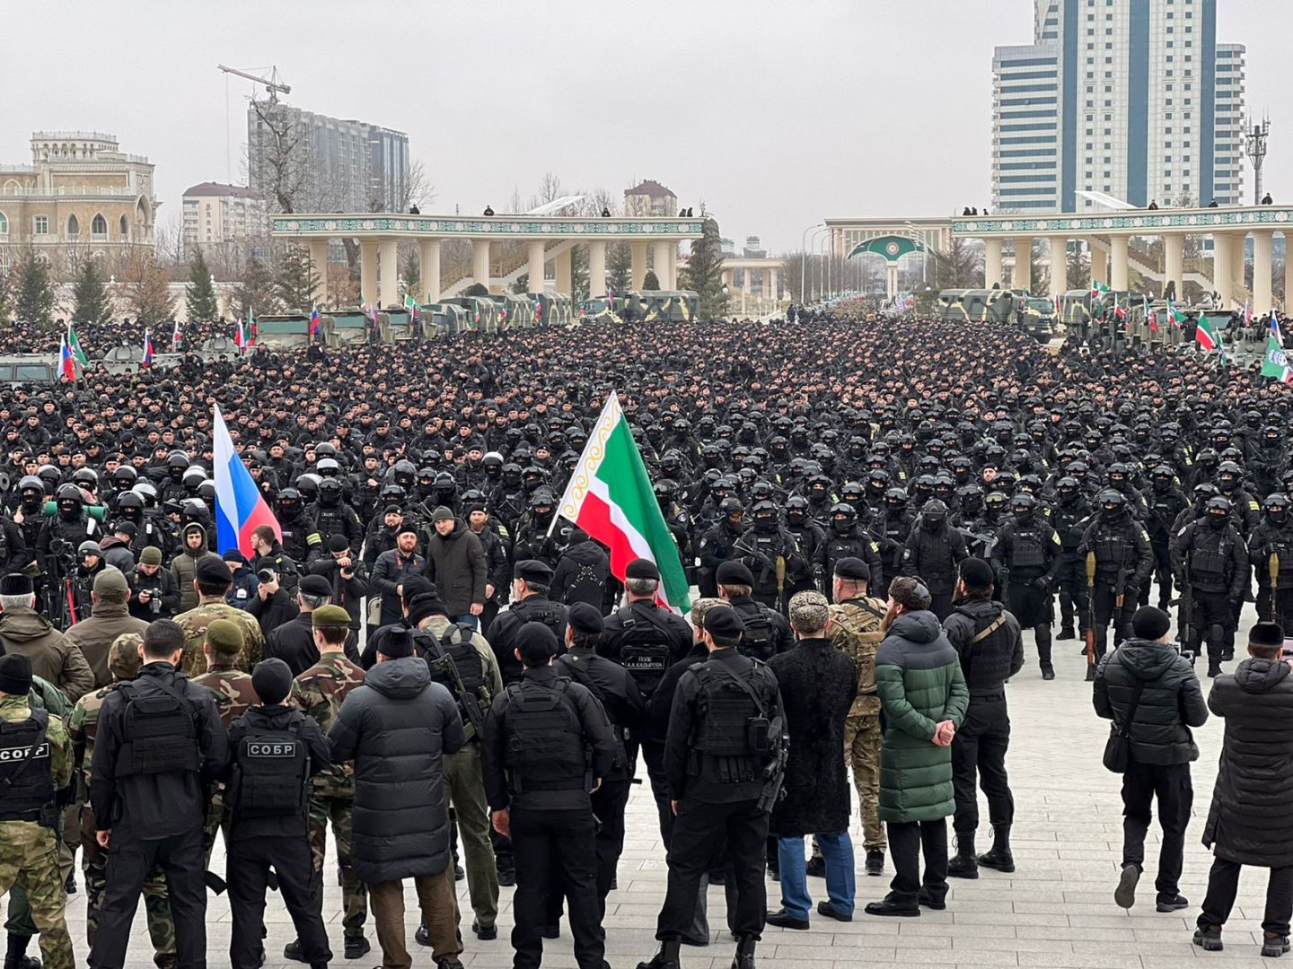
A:
<svg viewBox="0 0 1293 969">
<path fill-rule="evenodd" d="M 1050 637 L 1054 621 L 1051 587 L 1059 567 L 1059 536 L 1046 519 L 1037 514 L 1037 499 L 1027 491 L 1015 495 L 1011 504 L 1015 519 L 1002 526 L 993 547 L 996 572 L 1002 584 L 1002 601 L 1010 607 L 1020 627 L 1032 627 L 1042 680 L 1054 680 Z M 963 580 L 963 570 L 961 576 Z"/>
</svg>

